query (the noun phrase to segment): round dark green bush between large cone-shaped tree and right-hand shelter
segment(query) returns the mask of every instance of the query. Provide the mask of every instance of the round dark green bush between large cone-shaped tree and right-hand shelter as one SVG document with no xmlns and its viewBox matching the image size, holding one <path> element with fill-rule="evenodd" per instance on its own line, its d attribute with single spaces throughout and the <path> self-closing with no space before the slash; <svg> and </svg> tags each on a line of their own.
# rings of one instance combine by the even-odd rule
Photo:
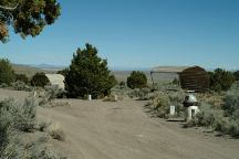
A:
<svg viewBox="0 0 239 159">
<path fill-rule="evenodd" d="M 147 77 L 143 72 L 133 71 L 127 77 L 127 86 L 132 89 L 147 86 Z"/>
</svg>

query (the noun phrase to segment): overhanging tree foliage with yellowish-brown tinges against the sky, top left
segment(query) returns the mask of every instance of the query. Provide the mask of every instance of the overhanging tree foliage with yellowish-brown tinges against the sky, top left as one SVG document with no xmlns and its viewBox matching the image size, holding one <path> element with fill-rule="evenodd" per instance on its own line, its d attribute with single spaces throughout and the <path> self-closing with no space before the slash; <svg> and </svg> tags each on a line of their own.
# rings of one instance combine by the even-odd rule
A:
<svg viewBox="0 0 239 159">
<path fill-rule="evenodd" d="M 54 23 L 60 13 L 56 0 L 1 0 L 0 41 L 8 40 L 10 26 L 22 38 L 37 36 L 45 25 Z"/>
</svg>

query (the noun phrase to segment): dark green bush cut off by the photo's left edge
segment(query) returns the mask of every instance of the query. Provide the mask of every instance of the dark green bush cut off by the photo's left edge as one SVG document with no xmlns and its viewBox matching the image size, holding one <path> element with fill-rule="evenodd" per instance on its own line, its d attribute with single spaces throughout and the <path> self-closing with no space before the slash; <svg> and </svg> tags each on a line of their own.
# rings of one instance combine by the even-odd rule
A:
<svg viewBox="0 0 239 159">
<path fill-rule="evenodd" d="M 0 59 L 0 84 L 11 84 L 14 81 L 14 72 L 8 60 Z"/>
</svg>

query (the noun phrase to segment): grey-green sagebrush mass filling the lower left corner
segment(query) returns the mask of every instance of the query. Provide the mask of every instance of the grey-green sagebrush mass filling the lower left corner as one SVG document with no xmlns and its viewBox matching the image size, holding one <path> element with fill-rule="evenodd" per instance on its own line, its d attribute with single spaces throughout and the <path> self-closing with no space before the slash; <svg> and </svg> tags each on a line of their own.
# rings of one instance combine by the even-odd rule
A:
<svg viewBox="0 0 239 159">
<path fill-rule="evenodd" d="M 0 158 L 60 158 L 50 147 L 48 135 L 31 140 L 24 136 L 38 130 L 37 106 L 34 97 L 23 104 L 12 98 L 0 103 Z"/>
</svg>

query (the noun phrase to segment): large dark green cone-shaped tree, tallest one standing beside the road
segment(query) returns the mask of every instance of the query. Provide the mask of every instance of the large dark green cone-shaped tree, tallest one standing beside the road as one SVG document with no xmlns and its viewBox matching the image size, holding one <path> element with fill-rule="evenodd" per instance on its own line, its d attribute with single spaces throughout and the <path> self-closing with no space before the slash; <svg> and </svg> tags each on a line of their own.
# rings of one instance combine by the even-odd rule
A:
<svg viewBox="0 0 239 159">
<path fill-rule="evenodd" d="M 100 98 L 110 95 L 116 80 L 111 75 L 106 60 L 97 55 L 96 47 L 86 44 L 86 49 L 77 49 L 65 75 L 69 96 L 84 98 L 91 94 L 93 98 Z"/>
</svg>

